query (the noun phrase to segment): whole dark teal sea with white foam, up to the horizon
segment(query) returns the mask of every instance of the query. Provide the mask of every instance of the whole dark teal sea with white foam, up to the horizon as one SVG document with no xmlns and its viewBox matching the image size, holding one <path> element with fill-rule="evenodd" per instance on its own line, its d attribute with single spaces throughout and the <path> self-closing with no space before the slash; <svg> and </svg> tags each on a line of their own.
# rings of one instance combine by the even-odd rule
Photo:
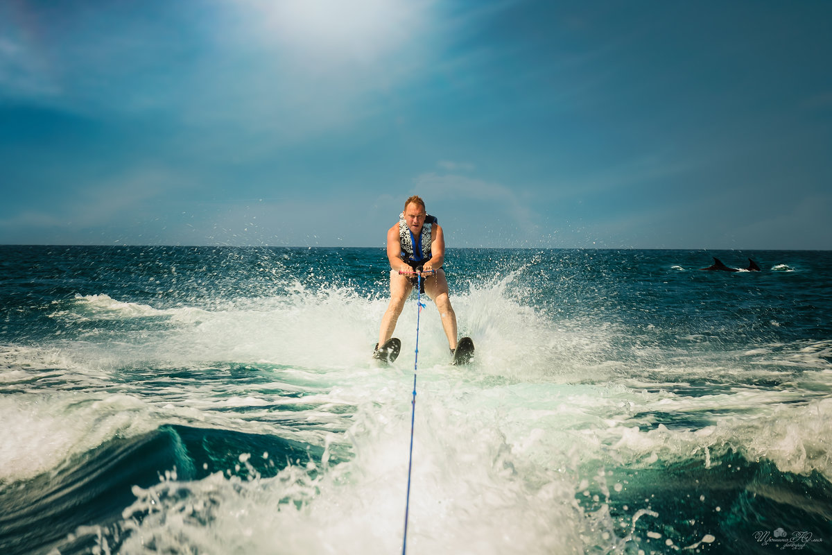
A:
<svg viewBox="0 0 832 555">
<path fill-rule="evenodd" d="M 701 271 L 712 256 L 761 271 Z M 832 553 L 832 252 L 448 250 L 408 553 Z M 0 553 L 401 553 L 382 249 L 0 246 Z"/>
</svg>

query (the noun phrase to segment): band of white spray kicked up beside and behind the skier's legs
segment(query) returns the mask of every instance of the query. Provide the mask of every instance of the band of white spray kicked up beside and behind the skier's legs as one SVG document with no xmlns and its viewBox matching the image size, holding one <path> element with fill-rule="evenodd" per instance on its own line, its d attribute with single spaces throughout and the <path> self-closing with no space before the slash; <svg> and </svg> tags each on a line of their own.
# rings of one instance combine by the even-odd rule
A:
<svg viewBox="0 0 832 555">
<path fill-rule="evenodd" d="M 533 291 L 518 282 L 521 271 L 468 283 L 468 290 L 453 292 L 460 334 L 476 338 L 481 368 L 552 375 L 552 369 L 567 371 L 567 359 L 604 348 L 610 335 L 607 324 L 572 330 L 575 322 L 552 322 L 545 307 L 526 305 Z M 213 306 L 157 308 L 104 294 L 77 295 L 68 304 L 58 303 L 50 314 L 66 331 L 42 344 L 59 350 L 70 359 L 66 364 L 85 372 L 217 361 L 316 369 L 356 366 L 369 363 L 387 299 L 361 295 L 348 285 L 310 288 L 296 282 L 285 295 L 203 304 Z M 414 297 L 396 329 L 403 343 L 403 368 L 415 348 L 415 320 Z M 421 361 L 429 366 L 448 364 L 447 340 L 429 300 L 423 320 Z M 518 366 L 518 359 L 537 363 L 530 369 Z"/>
</svg>

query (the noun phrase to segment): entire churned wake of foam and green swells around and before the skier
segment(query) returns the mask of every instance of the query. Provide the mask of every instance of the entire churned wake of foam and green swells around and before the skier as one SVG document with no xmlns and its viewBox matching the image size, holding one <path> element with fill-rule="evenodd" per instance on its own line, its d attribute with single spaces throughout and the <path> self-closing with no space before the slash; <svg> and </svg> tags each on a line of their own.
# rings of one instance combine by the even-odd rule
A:
<svg viewBox="0 0 832 555">
<path fill-rule="evenodd" d="M 761 518 L 827 529 L 828 340 L 669 342 L 657 315 L 609 310 L 615 290 L 566 276 L 542 298 L 539 262 L 455 284 L 471 366 L 448 365 L 423 310 L 414 551 L 748 552 Z M 398 550 L 417 309 L 379 369 L 386 305 L 299 282 L 186 305 L 58 302 L 52 320 L 75 334 L 0 349 L 14 392 L 0 396 L 0 548 Z"/>
</svg>

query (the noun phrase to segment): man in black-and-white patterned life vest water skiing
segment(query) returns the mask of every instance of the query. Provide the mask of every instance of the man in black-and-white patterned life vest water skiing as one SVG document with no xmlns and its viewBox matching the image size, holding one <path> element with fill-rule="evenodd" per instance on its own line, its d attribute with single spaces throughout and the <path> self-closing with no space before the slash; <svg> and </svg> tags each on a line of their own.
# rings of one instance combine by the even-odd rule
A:
<svg viewBox="0 0 832 555">
<path fill-rule="evenodd" d="M 448 347 L 453 354 L 457 348 L 457 315 L 448 299 L 448 280 L 442 270 L 445 238 L 438 220 L 428 216 L 424 201 L 418 196 L 411 196 L 404 202 L 399 223 L 387 231 L 387 258 L 390 261 L 390 304 L 381 319 L 379 343 L 373 357 L 388 359 L 388 354 L 379 349 L 379 345 L 384 346 L 393 337 L 404 303 L 418 281 L 418 275 L 401 275 L 399 272 L 421 275 L 423 292 L 428 294 L 439 311 L 445 335 L 448 336 Z M 398 349 L 395 354 L 398 355 Z"/>
</svg>

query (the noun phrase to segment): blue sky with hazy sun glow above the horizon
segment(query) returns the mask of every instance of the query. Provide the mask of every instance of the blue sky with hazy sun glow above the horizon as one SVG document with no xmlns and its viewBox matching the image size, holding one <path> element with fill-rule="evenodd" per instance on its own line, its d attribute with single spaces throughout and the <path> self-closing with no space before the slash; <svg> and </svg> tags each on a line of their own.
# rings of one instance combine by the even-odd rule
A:
<svg viewBox="0 0 832 555">
<path fill-rule="evenodd" d="M 832 250 L 827 0 L 0 2 L 0 244 Z"/>
</svg>

